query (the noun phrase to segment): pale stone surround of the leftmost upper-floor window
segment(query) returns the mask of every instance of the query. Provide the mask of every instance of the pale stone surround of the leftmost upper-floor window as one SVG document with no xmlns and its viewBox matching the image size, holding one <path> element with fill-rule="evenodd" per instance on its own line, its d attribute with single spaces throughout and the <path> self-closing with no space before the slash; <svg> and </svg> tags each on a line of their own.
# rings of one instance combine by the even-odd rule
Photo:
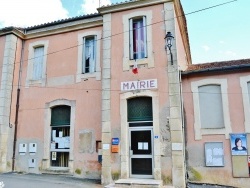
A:
<svg viewBox="0 0 250 188">
<path fill-rule="evenodd" d="M 38 80 L 33 80 L 33 64 L 34 64 L 34 55 L 35 48 L 44 47 L 44 57 L 43 57 L 43 66 L 42 66 L 42 77 Z M 48 56 L 48 46 L 49 41 L 36 41 L 29 44 L 29 56 L 28 56 L 28 71 L 26 76 L 26 87 L 32 84 L 41 84 L 45 86 L 46 83 L 46 67 L 47 67 L 47 56 Z"/>
</svg>

